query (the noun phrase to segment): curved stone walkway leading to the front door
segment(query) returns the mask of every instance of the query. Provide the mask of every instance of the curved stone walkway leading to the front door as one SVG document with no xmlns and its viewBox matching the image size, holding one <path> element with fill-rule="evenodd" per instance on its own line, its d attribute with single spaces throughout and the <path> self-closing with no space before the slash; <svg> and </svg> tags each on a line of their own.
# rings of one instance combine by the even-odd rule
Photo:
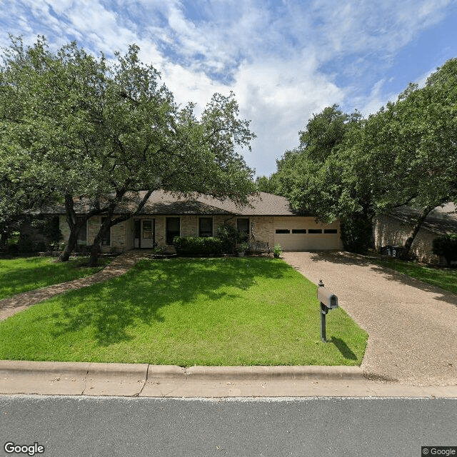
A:
<svg viewBox="0 0 457 457">
<path fill-rule="evenodd" d="M 0 321 L 4 321 L 6 318 L 9 318 L 9 316 L 13 316 L 13 314 L 19 313 L 19 311 L 23 311 L 24 309 L 29 308 L 29 306 L 46 300 L 46 298 L 58 295 L 59 293 L 64 293 L 71 289 L 91 286 L 92 284 L 101 283 L 107 279 L 121 276 L 129 271 L 140 258 L 147 257 L 148 253 L 149 251 L 127 251 L 121 253 L 121 255 L 117 256 L 114 261 L 103 270 L 92 276 L 86 276 L 85 278 L 74 279 L 73 281 L 54 284 L 53 286 L 39 288 L 34 291 L 19 293 L 19 295 L 13 297 L 4 298 L 3 300 L 0 300 Z"/>
</svg>

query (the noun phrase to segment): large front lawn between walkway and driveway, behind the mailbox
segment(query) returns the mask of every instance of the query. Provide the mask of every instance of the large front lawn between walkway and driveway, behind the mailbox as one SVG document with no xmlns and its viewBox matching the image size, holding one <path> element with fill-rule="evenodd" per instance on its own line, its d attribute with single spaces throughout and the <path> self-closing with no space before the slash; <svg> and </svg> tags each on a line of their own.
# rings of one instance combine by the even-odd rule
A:
<svg viewBox="0 0 457 457">
<path fill-rule="evenodd" d="M 0 323 L 0 359 L 179 366 L 360 365 L 367 334 L 280 259 L 142 260 Z"/>
</svg>

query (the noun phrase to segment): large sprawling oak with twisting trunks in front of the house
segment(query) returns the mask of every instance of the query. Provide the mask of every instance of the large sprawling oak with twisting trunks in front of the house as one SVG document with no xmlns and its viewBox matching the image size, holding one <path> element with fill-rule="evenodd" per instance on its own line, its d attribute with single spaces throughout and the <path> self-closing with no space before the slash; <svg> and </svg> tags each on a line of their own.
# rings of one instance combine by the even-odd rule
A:
<svg viewBox="0 0 457 457">
<path fill-rule="evenodd" d="M 114 210 L 129 192 L 164 189 L 243 204 L 255 190 L 253 171 L 237 153 L 255 134 L 249 121 L 239 119 L 233 93 L 214 94 L 197 119 L 194 104 L 176 104 L 154 66 L 140 61 L 136 45 L 108 61 L 76 42 L 52 52 L 44 37 L 33 46 L 19 38 L 3 60 L 1 149 L 5 161 L 17 164 L 8 182 L 21 195 L 19 206 L 8 211 L 29 204 L 23 195 L 33 196 L 41 186 L 46 196 L 63 201 L 71 229 L 63 260 L 85 221 L 104 214 L 96 256 L 104 232 L 121 221 Z M 29 188 L 21 176 L 40 185 Z M 76 196 L 91 202 L 86 214 L 76 215 Z"/>
</svg>

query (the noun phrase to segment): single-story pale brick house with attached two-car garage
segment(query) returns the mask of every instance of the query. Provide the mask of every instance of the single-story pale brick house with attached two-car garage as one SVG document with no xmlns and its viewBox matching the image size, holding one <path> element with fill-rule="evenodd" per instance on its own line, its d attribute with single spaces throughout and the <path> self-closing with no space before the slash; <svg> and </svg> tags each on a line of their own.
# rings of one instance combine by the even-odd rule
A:
<svg viewBox="0 0 457 457">
<path fill-rule="evenodd" d="M 135 201 L 144 196 L 140 192 Z M 134 202 L 134 199 L 131 200 Z M 132 208 L 134 205 L 132 205 Z M 86 203 L 75 200 L 76 214 L 87 209 Z M 119 207 L 116 214 L 125 214 L 129 203 Z M 59 214 L 60 229 L 68 239 L 69 226 L 64 208 L 54 208 L 48 214 Z M 79 244 L 91 244 L 104 216 L 91 218 L 86 231 L 79 233 Z M 246 231 L 256 241 L 271 248 L 280 244 L 284 251 L 313 251 L 341 249 L 340 225 L 316 222 L 313 216 L 303 216 L 291 210 L 288 200 L 261 192 L 241 208 L 232 201 L 219 201 L 208 196 L 184 199 L 155 191 L 140 214 L 111 227 L 102 244 L 103 251 L 128 251 L 132 248 L 152 248 L 154 243 L 166 246 L 175 236 L 215 236 L 219 226 L 228 224 Z"/>
</svg>

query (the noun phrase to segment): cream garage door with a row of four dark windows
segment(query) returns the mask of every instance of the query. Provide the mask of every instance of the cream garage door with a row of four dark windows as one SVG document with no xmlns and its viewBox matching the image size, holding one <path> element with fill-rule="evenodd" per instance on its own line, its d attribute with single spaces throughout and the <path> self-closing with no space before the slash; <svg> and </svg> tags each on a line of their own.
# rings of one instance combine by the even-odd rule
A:
<svg viewBox="0 0 457 457">
<path fill-rule="evenodd" d="M 313 217 L 273 218 L 274 243 L 283 251 L 341 249 L 339 222 L 321 224 Z"/>
</svg>

